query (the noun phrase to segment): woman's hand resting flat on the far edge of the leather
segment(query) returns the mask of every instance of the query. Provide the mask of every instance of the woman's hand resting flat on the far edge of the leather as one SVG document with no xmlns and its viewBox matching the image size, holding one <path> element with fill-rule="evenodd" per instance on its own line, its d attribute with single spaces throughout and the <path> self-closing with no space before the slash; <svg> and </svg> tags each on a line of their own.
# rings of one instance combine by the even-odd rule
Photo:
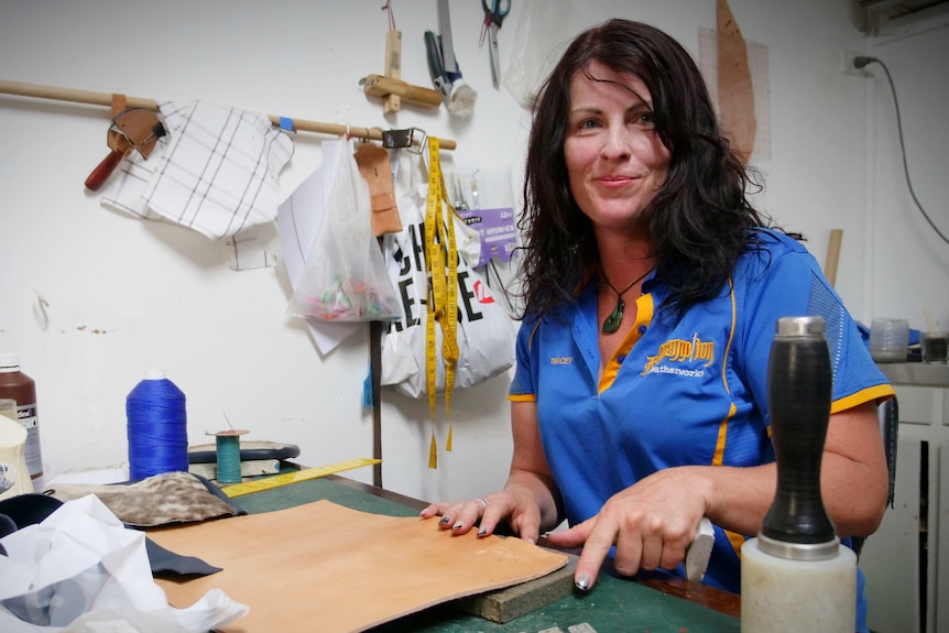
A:
<svg viewBox="0 0 949 633">
<path fill-rule="evenodd" d="M 497 492 L 469 501 L 433 503 L 422 511 L 423 519 L 441 516 L 438 526 L 452 534 L 467 534 L 476 525 L 478 536 L 493 534 L 499 525 L 531 543 L 536 543 L 541 531 L 541 509 L 530 494 Z"/>
</svg>

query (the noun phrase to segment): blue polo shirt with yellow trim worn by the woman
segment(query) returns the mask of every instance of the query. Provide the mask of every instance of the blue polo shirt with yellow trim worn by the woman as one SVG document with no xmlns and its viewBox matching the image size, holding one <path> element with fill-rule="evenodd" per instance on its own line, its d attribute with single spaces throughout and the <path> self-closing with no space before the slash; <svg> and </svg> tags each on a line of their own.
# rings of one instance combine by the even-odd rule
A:
<svg viewBox="0 0 949 633">
<path fill-rule="evenodd" d="M 759 237 L 761 248 L 741 257 L 728 287 L 680 320 L 658 310 L 668 287 L 654 274 L 646 280 L 636 324 L 602 373 L 595 282 L 575 305 L 522 323 L 509 399 L 537 405 L 570 524 L 663 468 L 773 462 L 767 361 L 779 317 L 823 317 L 832 412 L 893 395 L 814 257 L 783 233 Z M 740 591 L 745 538 L 716 527 L 706 582 Z"/>
</svg>

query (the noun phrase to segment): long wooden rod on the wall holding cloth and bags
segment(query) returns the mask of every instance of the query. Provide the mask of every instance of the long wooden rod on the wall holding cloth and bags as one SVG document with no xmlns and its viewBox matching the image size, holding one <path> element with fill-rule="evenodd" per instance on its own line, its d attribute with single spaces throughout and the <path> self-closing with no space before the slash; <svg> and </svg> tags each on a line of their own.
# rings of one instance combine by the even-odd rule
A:
<svg viewBox="0 0 949 633">
<path fill-rule="evenodd" d="M 9 81 L 0 79 L 0 92 L 7 95 L 18 95 L 20 97 L 35 97 L 37 99 L 53 99 L 57 101 L 72 101 L 74 103 L 89 103 L 92 106 L 112 107 L 111 92 L 94 92 L 91 90 L 76 90 L 73 88 L 57 88 L 55 86 L 41 86 L 39 84 L 28 84 L 24 81 Z M 439 97 L 440 98 L 440 97 Z M 157 110 L 159 102 L 154 99 L 143 99 L 139 97 L 127 97 L 126 102 L 129 108 L 145 108 L 148 110 Z M 274 125 L 280 125 L 281 117 L 269 114 L 268 118 Z M 319 134 L 332 134 L 342 137 L 347 132 L 359 139 L 372 139 L 375 141 L 382 140 L 382 130 L 377 128 L 358 128 L 356 125 L 340 125 L 338 123 L 321 123 L 319 121 L 308 121 L 306 119 L 291 119 L 293 129 L 304 132 L 316 132 Z M 445 150 L 454 150 L 455 141 L 450 139 L 438 139 L 439 146 Z"/>
</svg>

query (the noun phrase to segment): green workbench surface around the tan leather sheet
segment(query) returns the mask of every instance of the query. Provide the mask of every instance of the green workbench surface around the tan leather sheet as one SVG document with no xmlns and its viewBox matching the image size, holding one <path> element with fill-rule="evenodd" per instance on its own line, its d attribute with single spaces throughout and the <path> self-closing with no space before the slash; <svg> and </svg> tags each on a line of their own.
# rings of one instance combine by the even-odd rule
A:
<svg viewBox="0 0 949 633">
<path fill-rule="evenodd" d="M 417 510 L 329 479 L 312 479 L 233 499 L 250 513 L 272 512 L 326 499 L 353 510 L 416 516 Z M 314 535 L 317 537 L 318 535 Z M 586 624 L 586 627 L 582 626 Z M 572 627 L 572 629 L 571 629 Z M 449 604 L 374 627 L 374 633 L 738 633 L 738 618 L 667 596 L 637 582 L 601 575 L 586 593 L 497 624 Z"/>
</svg>

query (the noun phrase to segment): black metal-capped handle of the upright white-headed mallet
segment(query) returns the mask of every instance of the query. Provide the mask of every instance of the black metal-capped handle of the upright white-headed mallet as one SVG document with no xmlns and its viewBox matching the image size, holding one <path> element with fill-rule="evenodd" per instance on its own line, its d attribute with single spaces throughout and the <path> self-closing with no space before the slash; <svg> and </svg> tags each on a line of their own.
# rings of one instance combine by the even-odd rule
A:
<svg viewBox="0 0 949 633">
<path fill-rule="evenodd" d="M 777 457 L 777 491 L 761 531 L 768 539 L 837 543 L 820 494 L 832 380 L 823 319 L 778 319 L 767 367 L 768 411 Z"/>
</svg>

